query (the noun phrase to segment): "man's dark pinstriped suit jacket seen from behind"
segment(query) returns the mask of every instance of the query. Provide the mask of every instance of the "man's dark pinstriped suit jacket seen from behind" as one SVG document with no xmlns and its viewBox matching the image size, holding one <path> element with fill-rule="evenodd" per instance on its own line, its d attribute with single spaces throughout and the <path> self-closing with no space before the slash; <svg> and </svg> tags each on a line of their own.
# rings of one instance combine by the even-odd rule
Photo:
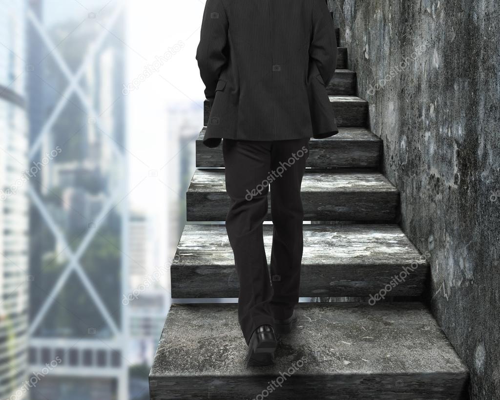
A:
<svg viewBox="0 0 500 400">
<path fill-rule="evenodd" d="M 196 51 L 211 103 L 203 143 L 336 134 L 325 89 L 336 57 L 325 0 L 206 0 Z"/>
</svg>

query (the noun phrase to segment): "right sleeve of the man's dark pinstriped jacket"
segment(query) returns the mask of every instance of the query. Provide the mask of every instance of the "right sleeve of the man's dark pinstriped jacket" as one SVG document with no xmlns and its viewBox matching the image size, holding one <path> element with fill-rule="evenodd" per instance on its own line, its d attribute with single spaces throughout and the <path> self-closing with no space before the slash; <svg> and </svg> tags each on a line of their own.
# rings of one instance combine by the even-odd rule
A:
<svg viewBox="0 0 500 400">
<path fill-rule="evenodd" d="M 309 56 L 316 63 L 325 85 L 329 83 L 337 64 L 335 26 L 324 0 L 312 0 L 312 35 Z"/>
</svg>

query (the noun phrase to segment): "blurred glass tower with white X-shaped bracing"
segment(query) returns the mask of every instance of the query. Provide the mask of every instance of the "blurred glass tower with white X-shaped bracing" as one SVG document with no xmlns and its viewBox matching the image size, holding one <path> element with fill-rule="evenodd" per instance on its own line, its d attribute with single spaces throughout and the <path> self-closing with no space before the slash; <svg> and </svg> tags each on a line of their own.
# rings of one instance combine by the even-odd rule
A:
<svg viewBox="0 0 500 400">
<path fill-rule="evenodd" d="M 126 399 L 124 11 L 30 0 L 29 370 L 33 400 Z"/>
</svg>

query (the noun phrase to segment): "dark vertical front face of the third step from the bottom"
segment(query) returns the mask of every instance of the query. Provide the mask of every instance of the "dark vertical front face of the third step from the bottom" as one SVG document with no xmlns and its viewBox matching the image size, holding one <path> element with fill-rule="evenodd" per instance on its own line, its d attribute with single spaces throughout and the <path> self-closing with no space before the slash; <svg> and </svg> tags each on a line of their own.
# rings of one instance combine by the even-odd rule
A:
<svg viewBox="0 0 500 400">
<path fill-rule="evenodd" d="M 306 221 L 392 221 L 396 216 L 399 201 L 399 195 L 392 191 L 360 193 L 302 191 L 301 197 Z M 229 197 L 222 192 L 188 190 L 186 203 L 188 221 L 225 221 Z M 268 196 L 266 220 L 271 220 L 270 196 Z"/>
</svg>

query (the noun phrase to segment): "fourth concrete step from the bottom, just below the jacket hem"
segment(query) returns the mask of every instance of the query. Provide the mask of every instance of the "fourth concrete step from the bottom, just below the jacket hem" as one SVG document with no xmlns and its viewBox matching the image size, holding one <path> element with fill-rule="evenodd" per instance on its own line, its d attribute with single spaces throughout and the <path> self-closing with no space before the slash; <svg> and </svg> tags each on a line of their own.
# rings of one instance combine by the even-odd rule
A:
<svg viewBox="0 0 500 400">
<path fill-rule="evenodd" d="M 205 129 L 201 129 L 196 139 L 196 166 L 224 166 L 222 145 L 210 148 L 203 144 Z M 342 127 L 335 136 L 311 137 L 309 149 L 306 166 L 310 168 L 377 168 L 382 140 L 366 128 Z"/>
</svg>

